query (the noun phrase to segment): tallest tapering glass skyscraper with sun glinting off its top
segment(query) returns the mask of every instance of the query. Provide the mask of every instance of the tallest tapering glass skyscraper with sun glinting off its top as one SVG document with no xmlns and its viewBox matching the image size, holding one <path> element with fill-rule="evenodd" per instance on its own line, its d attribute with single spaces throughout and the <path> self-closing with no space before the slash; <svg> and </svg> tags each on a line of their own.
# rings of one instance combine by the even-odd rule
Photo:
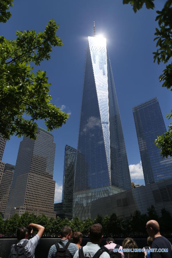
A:
<svg viewBox="0 0 172 258">
<path fill-rule="evenodd" d="M 131 189 L 120 112 L 106 39 L 88 37 L 73 216 L 91 216 L 91 201 Z"/>
</svg>

